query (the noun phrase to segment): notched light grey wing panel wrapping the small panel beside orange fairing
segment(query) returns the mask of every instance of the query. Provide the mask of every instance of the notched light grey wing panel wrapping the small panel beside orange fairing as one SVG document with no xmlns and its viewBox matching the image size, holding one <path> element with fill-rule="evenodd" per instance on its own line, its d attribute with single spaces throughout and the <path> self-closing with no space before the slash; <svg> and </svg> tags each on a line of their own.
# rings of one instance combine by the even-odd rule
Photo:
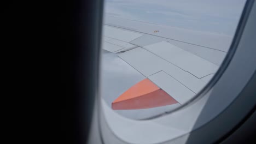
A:
<svg viewBox="0 0 256 144">
<path fill-rule="evenodd" d="M 202 80 L 141 47 L 120 53 L 118 56 L 146 77 L 162 70 L 194 93 L 199 92 L 205 86 Z"/>
</svg>

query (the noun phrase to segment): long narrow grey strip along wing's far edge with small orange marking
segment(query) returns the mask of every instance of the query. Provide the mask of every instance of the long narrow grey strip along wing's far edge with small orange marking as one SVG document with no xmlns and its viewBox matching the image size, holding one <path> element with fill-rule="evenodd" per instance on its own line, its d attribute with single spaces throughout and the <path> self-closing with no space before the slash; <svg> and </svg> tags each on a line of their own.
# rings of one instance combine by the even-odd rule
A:
<svg viewBox="0 0 256 144">
<path fill-rule="evenodd" d="M 212 49 L 227 52 L 232 41 L 230 35 L 193 31 L 189 29 L 182 29 L 177 27 L 170 27 L 159 25 L 156 23 L 148 23 L 142 21 L 135 21 L 129 19 L 122 19 L 119 17 L 105 16 L 105 25 L 117 28 L 123 28 L 143 34 L 156 35 L 158 37 L 183 41 L 185 43 L 210 47 Z M 159 31 L 158 33 L 154 33 Z"/>
</svg>

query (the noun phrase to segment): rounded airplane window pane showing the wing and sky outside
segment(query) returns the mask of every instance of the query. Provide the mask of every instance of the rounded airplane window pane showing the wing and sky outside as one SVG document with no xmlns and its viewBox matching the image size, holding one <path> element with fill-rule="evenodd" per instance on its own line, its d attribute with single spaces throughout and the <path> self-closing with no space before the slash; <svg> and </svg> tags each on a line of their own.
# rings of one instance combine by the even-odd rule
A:
<svg viewBox="0 0 256 144">
<path fill-rule="evenodd" d="M 211 81 L 245 0 L 106 0 L 101 98 L 131 119 L 186 104 Z"/>
</svg>

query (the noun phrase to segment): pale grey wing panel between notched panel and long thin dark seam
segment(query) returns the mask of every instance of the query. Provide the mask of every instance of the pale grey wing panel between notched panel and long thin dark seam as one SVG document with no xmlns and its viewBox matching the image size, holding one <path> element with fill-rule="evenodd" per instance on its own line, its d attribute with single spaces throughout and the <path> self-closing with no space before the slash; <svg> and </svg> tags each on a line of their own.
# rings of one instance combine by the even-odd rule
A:
<svg viewBox="0 0 256 144">
<path fill-rule="evenodd" d="M 199 79 L 218 70 L 217 65 L 166 41 L 144 46 L 144 48 Z"/>
</svg>

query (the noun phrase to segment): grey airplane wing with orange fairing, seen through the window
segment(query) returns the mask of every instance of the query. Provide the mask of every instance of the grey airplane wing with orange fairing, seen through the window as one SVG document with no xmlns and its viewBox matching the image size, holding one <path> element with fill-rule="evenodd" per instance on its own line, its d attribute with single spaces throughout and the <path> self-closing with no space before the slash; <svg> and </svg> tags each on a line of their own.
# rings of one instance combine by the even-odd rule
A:
<svg viewBox="0 0 256 144">
<path fill-rule="evenodd" d="M 224 34 L 105 16 L 102 97 L 135 119 L 174 109 L 211 80 L 231 40 Z"/>
</svg>

